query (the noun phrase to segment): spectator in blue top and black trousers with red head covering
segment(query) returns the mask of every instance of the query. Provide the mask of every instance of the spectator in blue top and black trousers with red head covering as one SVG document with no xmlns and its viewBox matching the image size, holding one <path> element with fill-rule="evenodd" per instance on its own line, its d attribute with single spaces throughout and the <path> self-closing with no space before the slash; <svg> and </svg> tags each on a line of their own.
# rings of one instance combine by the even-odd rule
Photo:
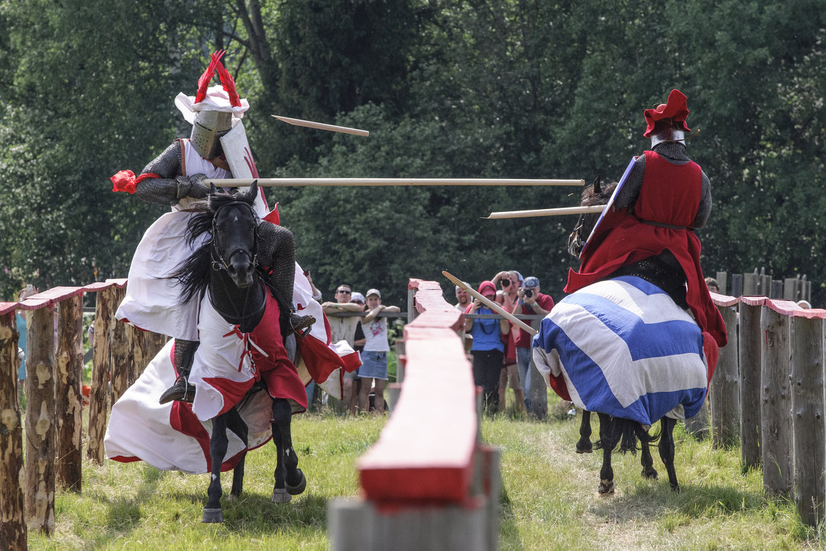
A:
<svg viewBox="0 0 826 551">
<path fill-rule="evenodd" d="M 492 281 L 482 281 L 478 292 L 486 299 L 496 299 L 496 285 Z M 493 310 L 475 299 L 466 313 L 493 313 Z M 499 409 L 499 372 L 505 353 L 502 336 L 510 333 L 510 323 L 506 319 L 466 318 L 465 332 L 473 335 L 473 382 L 482 387 L 485 411 L 496 413 Z"/>
</svg>

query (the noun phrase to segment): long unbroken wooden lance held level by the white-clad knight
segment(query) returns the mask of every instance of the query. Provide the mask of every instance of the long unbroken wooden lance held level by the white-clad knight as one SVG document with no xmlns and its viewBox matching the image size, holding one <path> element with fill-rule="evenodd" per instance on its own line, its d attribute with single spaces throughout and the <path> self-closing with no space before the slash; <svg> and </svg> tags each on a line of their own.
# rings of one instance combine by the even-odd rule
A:
<svg viewBox="0 0 826 551">
<path fill-rule="evenodd" d="M 252 178 L 211 178 L 204 183 L 244 187 Z M 525 180 L 509 178 L 258 178 L 263 187 L 305 186 L 583 186 L 585 180 Z"/>
</svg>

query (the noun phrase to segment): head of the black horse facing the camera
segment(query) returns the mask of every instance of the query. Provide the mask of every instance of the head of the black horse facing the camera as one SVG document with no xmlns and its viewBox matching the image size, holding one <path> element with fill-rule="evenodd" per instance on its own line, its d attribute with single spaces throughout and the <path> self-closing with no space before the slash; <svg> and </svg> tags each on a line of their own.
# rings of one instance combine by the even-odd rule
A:
<svg viewBox="0 0 826 551">
<path fill-rule="evenodd" d="M 230 195 L 210 191 L 212 218 L 212 267 L 225 270 L 240 288 L 252 285 L 255 278 L 259 219 L 253 210 L 258 183 L 249 191 Z"/>
</svg>

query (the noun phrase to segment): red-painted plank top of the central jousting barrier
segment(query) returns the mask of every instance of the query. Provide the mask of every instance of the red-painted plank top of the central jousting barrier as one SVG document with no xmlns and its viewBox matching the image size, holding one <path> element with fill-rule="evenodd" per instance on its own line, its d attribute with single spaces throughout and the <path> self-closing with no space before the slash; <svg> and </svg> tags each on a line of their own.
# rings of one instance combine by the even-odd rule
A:
<svg viewBox="0 0 826 551">
<path fill-rule="evenodd" d="M 365 497 L 381 505 L 467 499 L 477 447 L 476 386 L 456 331 L 463 313 L 433 281 L 412 280 L 420 316 L 405 327 L 401 397 L 358 460 Z"/>
</svg>

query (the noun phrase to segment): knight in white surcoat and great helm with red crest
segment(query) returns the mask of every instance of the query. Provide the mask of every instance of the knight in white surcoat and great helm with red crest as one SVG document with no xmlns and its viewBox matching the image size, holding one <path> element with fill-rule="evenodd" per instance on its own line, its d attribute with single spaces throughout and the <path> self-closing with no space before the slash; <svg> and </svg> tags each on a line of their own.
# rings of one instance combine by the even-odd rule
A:
<svg viewBox="0 0 826 551">
<path fill-rule="evenodd" d="M 115 191 L 128 191 L 150 203 L 172 207 L 171 212 L 150 226 L 135 250 L 126 297 L 116 312 L 119 320 L 175 339 L 173 361 L 178 379 L 161 395 L 160 403 L 172 400 L 191 403 L 195 392 L 187 379 L 199 344 L 200 297 L 182 302 L 178 281 L 169 277 L 178 264 L 203 243 L 187 241 L 186 228 L 192 216 L 188 208 L 193 201 L 207 197 L 210 188 L 204 180 L 258 177 L 241 123 L 249 102 L 235 91 L 235 82 L 221 64 L 223 54 L 212 54 L 207 71 L 198 80 L 195 97 L 182 92 L 175 98 L 175 106 L 192 124 L 190 137 L 176 139 L 147 164 L 139 176 L 121 171 L 112 177 Z M 216 71 L 221 86 L 209 87 Z M 255 200 L 254 210 L 260 218 L 269 212 L 263 190 Z M 300 331 L 310 326 L 315 319 L 298 315 L 292 304 L 295 276 L 292 232 L 277 224 L 263 223 L 259 225 L 259 239 L 271 244 L 272 247 L 266 248 L 275 252 L 271 258 L 259 258 L 259 263 L 270 268 L 269 286 L 282 303 L 282 311 L 289 313 L 282 327 L 286 331 Z"/>
</svg>

